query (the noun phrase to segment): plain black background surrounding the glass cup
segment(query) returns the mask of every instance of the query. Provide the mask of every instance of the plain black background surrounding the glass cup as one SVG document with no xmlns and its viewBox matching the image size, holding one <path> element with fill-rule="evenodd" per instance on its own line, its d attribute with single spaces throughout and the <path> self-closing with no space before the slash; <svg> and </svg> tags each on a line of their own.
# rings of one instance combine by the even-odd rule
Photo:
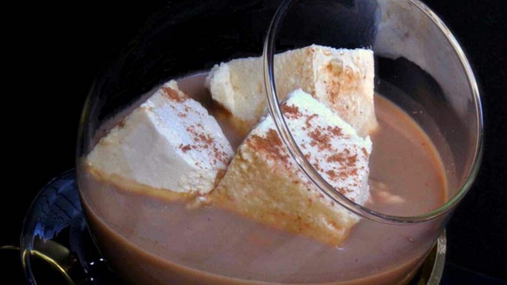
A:
<svg viewBox="0 0 507 285">
<path fill-rule="evenodd" d="M 426 0 L 463 46 L 482 90 L 485 156 L 478 179 L 447 228 L 445 283 L 507 280 L 507 5 L 503 0 Z M 99 68 L 146 18 L 169 2 L 25 4 L 6 9 L 0 246 L 19 243 L 24 213 L 52 177 L 73 168 L 85 97 Z M 14 17 L 12 17 L 14 16 Z M 7 18 L 5 18 L 7 19 Z M 7 38 L 6 38 L 7 37 Z M 7 101 L 7 102 L 6 102 Z M 5 172 L 6 171 L 6 172 Z M 0 255 L 2 276 L 23 282 Z M 18 280 L 18 281 L 16 281 Z"/>
</svg>

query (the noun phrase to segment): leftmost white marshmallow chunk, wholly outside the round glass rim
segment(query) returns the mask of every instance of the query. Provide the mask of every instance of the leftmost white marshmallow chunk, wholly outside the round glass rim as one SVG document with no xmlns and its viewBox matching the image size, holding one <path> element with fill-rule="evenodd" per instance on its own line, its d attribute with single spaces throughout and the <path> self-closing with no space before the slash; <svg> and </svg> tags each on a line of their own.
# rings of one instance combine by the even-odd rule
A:
<svg viewBox="0 0 507 285">
<path fill-rule="evenodd" d="M 215 119 L 170 81 L 101 138 L 86 164 L 101 176 L 204 194 L 233 154 Z"/>
</svg>

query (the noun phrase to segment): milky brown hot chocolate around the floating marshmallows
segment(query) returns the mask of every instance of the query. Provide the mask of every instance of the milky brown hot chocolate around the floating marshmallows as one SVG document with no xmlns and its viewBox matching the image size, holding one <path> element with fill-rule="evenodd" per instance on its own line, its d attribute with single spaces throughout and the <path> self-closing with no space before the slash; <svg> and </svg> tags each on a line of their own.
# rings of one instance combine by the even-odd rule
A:
<svg viewBox="0 0 507 285">
<path fill-rule="evenodd" d="M 180 88 L 197 99 L 209 97 L 202 80 L 184 79 Z M 381 129 L 372 135 L 374 202 L 368 206 L 404 216 L 438 208 L 446 199 L 447 182 L 431 141 L 392 103 L 380 96 L 375 103 Z M 227 120 L 219 121 L 233 137 Z M 233 138 L 237 146 L 241 138 Z M 84 171 L 80 183 L 101 251 L 125 280 L 136 284 L 404 284 L 444 222 L 393 226 L 362 219 L 340 247 L 332 247 L 225 210 L 189 209 L 181 202 L 117 189 Z M 404 202 L 383 200 L 379 193 L 384 190 Z"/>
</svg>

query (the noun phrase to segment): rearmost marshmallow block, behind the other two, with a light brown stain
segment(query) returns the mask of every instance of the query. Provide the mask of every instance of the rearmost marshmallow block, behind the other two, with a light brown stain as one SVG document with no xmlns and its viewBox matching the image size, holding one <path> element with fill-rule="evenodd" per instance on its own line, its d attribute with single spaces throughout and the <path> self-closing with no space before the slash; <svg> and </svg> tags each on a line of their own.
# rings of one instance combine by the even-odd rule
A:
<svg viewBox="0 0 507 285">
<path fill-rule="evenodd" d="M 359 135 L 377 129 L 373 51 L 311 45 L 277 54 L 274 59 L 280 100 L 301 88 L 338 112 Z M 245 127 L 253 127 L 265 112 L 261 58 L 233 59 L 215 65 L 205 85 L 212 98 Z"/>
</svg>

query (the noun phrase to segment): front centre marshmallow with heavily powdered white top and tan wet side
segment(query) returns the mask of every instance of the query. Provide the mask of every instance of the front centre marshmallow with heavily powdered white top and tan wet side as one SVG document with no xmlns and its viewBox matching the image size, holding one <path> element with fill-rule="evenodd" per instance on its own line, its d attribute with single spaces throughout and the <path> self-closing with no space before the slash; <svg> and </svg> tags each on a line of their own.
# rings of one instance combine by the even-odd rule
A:
<svg viewBox="0 0 507 285">
<path fill-rule="evenodd" d="M 310 163 L 335 189 L 364 204 L 370 198 L 370 138 L 359 137 L 302 90 L 292 92 L 282 109 Z M 248 219 L 331 245 L 340 245 L 359 221 L 308 180 L 282 145 L 270 116 L 250 132 L 209 200 Z"/>
</svg>

